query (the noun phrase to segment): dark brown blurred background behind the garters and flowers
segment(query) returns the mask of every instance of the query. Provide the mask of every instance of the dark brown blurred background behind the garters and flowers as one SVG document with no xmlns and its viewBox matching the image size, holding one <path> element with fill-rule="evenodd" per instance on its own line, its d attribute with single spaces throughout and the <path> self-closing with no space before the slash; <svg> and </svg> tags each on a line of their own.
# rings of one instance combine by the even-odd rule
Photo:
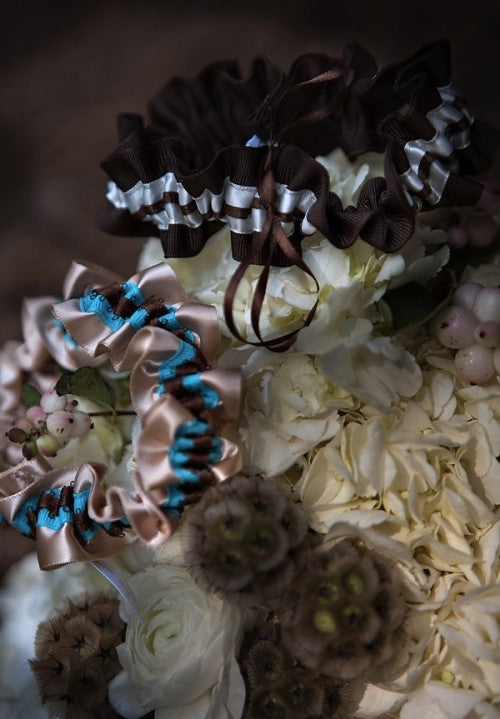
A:
<svg viewBox="0 0 500 719">
<path fill-rule="evenodd" d="M 228 57 L 246 70 L 258 54 L 288 67 L 351 40 L 385 63 L 446 37 L 454 83 L 500 126 L 498 0 L 3 0 L 0 17 L 0 342 L 20 334 L 22 297 L 57 294 L 73 257 L 133 272 L 141 241 L 93 227 L 99 162 L 116 114 L 143 112 L 172 75 Z"/>
</svg>

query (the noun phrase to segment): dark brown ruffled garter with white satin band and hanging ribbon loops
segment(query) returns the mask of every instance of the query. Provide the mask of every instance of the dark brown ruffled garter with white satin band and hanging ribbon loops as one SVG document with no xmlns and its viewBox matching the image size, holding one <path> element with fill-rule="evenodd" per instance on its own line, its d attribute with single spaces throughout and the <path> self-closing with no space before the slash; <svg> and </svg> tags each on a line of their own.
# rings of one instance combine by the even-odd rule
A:
<svg viewBox="0 0 500 719">
<path fill-rule="evenodd" d="M 197 254 L 228 224 L 242 268 L 228 284 L 226 322 L 248 341 L 232 302 L 248 265 L 264 265 L 252 302 L 254 344 L 275 351 L 289 347 L 300 328 L 261 337 L 267 276 L 287 265 L 310 274 L 303 235 L 319 230 L 339 248 L 361 237 L 394 252 L 411 237 L 417 211 L 479 199 L 482 184 L 464 175 L 490 166 L 498 142 L 451 87 L 446 42 L 380 70 L 354 44 L 341 59 L 304 55 L 288 74 L 258 59 L 245 80 L 234 63 L 222 62 L 192 81 L 167 83 L 150 109 L 149 127 L 138 116 L 119 123 L 122 142 L 102 164 L 111 183 L 98 224 L 111 234 L 159 237 L 166 256 L 177 257 Z M 257 146 L 243 147 L 252 130 Z M 367 181 L 355 207 L 342 207 L 310 156 L 335 147 L 352 158 L 386 152 L 385 176 Z M 270 177 L 272 193 L 263 193 Z M 313 315 L 314 307 L 304 325 Z"/>
</svg>

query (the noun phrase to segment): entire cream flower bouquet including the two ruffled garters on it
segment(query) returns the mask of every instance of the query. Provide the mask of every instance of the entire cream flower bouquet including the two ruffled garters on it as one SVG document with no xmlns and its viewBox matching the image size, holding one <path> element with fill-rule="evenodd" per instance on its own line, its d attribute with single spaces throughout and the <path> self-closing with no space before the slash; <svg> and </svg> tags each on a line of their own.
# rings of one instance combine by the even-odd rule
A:
<svg viewBox="0 0 500 719">
<path fill-rule="evenodd" d="M 118 132 L 135 274 L 1 349 L 1 716 L 500 717 L 498 135 L 447 44 L 216 63 Z"/>
</svg>

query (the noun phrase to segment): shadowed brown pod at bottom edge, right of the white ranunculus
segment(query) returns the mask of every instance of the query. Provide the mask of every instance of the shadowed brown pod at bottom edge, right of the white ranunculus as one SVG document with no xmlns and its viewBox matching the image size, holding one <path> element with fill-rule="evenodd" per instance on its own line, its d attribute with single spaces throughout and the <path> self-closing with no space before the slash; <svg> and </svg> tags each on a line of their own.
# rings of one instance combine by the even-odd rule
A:
<svg viewBox="0 0 500 719">
<path fill-rule="evenodd" d="M 312 672 L 283 646 L 279 627 L 265 622 L 248 632 L 240 652 L 246 685 L 242 719 L 343 719 L 350 686 Z"/>
</svg>

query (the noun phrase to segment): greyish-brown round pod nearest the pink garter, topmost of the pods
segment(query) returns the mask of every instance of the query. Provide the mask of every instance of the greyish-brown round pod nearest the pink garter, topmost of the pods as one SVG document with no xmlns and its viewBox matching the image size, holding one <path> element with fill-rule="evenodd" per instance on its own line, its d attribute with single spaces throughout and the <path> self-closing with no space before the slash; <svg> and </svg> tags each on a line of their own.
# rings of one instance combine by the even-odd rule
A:
<svg viewBox="0 0 500 719">
<path fill-rule="evenodd" d="M 204 589 L 273 605 L 307 535 L 303 510 L 276 483 L 238 475 L 211 487 L 184 515 L 181 542 Z"/>
</svg>

